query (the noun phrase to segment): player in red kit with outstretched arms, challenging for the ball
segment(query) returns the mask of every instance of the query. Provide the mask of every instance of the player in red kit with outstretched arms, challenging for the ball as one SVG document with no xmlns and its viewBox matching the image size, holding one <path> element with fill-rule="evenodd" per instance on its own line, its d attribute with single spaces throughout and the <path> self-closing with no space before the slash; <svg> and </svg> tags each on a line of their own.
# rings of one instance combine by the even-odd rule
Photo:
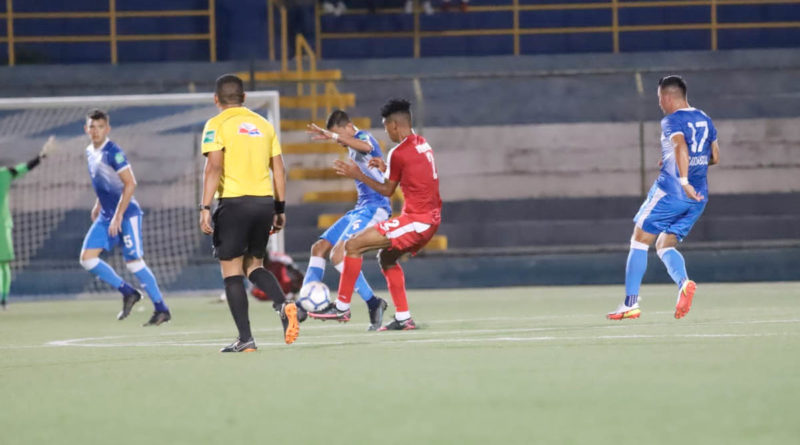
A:
<svg viewBox="0 0 800 445">
<path fill-rule="evenodd" d="M 392 196 L 400 185 L 405 197 L 400 216 L 369 227 L 345 242 L 344 270 L 339 280 L 339 298 L 335 304 L 311 312 L 312 318 L 342 320 L 350 311 L 350 297 L 359 272 L 361 255 L 380 249 L 383 275 L 395 305 L 394 320 L 378 329 L 416 329 L 406 299 L 405 276 L 397 260 L 405 253 L 416 254 L 430 241 L 441 222 L 442 199 L 439 197 L 439 175 L 433 160 L 433 149 L 411 128 L 411 104 L 392 99 L 381 109 L 383 127 L 392 142 L 399 144 L 389 151 L 386 163 L 373 158 L 370 166 L 380 168 L 386 177 L 382 184 L 367 177 L 352 161 L 336 161 L 334 169 L 342 176 L 364 182 L 384 196 Z"/>
</svg>

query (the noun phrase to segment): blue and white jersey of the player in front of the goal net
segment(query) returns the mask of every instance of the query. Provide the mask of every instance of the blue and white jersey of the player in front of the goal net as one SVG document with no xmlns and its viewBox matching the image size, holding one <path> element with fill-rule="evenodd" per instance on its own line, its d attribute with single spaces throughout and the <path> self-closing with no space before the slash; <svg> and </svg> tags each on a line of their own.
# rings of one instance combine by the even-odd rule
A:
<svg viewBox="0 0 800 445">
<path fill-rule="evenodd" d="M 122 197 L 124 184 L 119 173 L 131 168 L 128 158 L 122 149 L 112 141 L 106 139 L 101 148 L 95 149 L 94 145 L 86 147 L 86 160 L 89 163 L 89 176 L 92 178 L 92 187 L 100 201 L 100 217 L 110 220 L 117 211 L 117 204 Z M 131 202 L 125 210 L 124 218 L 141 215 L 142 209 L 136 199 L 131 197 Z"/>
</svg>

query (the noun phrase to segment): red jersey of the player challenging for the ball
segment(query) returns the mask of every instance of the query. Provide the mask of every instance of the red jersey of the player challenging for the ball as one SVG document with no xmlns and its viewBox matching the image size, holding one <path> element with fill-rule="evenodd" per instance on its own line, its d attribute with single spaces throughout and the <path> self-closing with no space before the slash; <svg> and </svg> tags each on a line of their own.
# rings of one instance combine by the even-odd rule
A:
<svg viewBox="0 0 800 445">
<path fill-rule="evenodd" d="M 385 176 L 400 183 L 405 197 L 403 213 L 430 215 L 428 222 L 438 224 L 442 209 L 439 174 L 433 161 L 433 149 L 425 138 L 411 134 L 389 150 Z"/>
</svg>

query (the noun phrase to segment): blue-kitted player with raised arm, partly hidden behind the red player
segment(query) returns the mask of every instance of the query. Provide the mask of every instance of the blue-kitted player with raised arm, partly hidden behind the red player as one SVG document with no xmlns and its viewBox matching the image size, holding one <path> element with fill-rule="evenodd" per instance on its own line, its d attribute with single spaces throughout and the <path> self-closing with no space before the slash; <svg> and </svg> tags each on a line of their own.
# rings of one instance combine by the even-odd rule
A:
<svg viewBox="0 0 800 445">
<path fill-rule="evenodd" d="M 315 140 L 333 140 L 341 146 L 347 148 L 350 159 L 352 159 L 368 177 L 383 183 L 383 173 L 377 168 L 369 166 L 372 158 L 382 157 L 381 148 L 378 141 L 371 134 L 364 130 L 359 130 L 350 121 L 342 110 L 336 110 L 328 117 L 326 123 L 327 130 L 315 124 L 309 124 L 309 133 Z M 392 213 L 389 198 L 381 195 L 361 181 L 356 180 L 358 190 L 358 202 L 353 210 L 347 212 L 328 228 L 319 241 L 311 246 L 311 258 L 308 262 L 308 269 L 303 284 L 312 281 L 322 281 L 325 272 L 325 257 L 330 255 L 334 268 L 342 272 L 344 269 L 344 242 L 356 233 L 383 222 Z M 367 303 L 369 308 L 369 330 L 376 331 L 383 322 L 383 312 L 386 310 L 386 301 L 375 296 L 369 283 L 361 273 L 356 281 L 356 291 Z M 339 308 L 343 315 L 338 317 L 339 321 L 350 320 L 350 308 Z M 327 310 L 335 311 L 335 306 L 331 305 Z"/>
</svg>

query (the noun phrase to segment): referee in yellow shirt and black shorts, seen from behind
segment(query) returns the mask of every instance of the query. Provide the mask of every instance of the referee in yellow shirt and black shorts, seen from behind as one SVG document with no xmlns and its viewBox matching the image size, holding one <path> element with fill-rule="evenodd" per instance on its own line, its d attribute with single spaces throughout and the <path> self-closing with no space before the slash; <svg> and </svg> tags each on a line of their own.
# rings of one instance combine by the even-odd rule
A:
<svg viewBox="0 0 800 445">
<path fill-rule="evenodd" d="M 203 129 L 206 166 L 200 230 L 213 234 L 214 256 L 219 259 L 228 306 L 239 330 L 239 338 L 220 352 L 257 349 L 250 332 L 245 276 L 280 309 L 286 343 L 293 343 L 300 332 L 297 306 L 286 301 L 275 275 L 264 269 L 270 228 L 277 232 L 286 223 L 281 146 L 272 124 L 244 107 L 244 98 L 240 78 L 232 74 L 218 78 L 214 104 L 220 113 Z M 215 192 L 219 205 L 212 216 Z"/>
</svg>

